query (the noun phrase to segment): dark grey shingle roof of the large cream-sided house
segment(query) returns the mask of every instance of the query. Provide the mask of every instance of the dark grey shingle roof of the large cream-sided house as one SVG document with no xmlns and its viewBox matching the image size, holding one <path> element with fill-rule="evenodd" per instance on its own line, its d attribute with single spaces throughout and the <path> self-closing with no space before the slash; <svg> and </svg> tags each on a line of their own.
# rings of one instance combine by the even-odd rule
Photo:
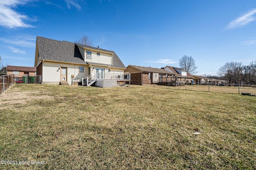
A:
<svg viewBox="0 0 256 170">
<path fill-rule="evenodd" d="M 117 68 L 126 68 L 114 51 L 98 49 L 96 47 L 80 45 L 80 44 L 71 43 L 68 41 L 57 41 L 57 40 L 48 39 L 44 37 L 36 37 L 36 43 L 38 45 L 39 59 L 41 60 L 78 63 L 78 64 L 91 64 L 90 62 L 84 61 L 78 49 L 78 46 L 81 46 L 81 47 L 86 47 L 90 49 L 95 49 L 98 51 L 112 53 L 113 54 L 112 65 L 109 65 L 109 64 L 107 65 L 117 67 Z M 106 65 L 106 64 L 100 64 L 100 63 L 96 63 L 96 64 Z"/>
</svg>

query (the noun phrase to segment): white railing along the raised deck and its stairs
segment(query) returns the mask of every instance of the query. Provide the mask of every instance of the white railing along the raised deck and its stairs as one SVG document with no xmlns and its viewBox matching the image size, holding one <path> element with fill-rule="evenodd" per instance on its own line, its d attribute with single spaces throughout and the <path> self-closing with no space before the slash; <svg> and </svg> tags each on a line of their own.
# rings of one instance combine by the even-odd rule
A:
<svg viewBox="0 0 256 170">
<path fill-rule="evenodd" d="M 104 80 L 130 80 L 131 74 L 124 74 L 119 72 L 104 72 L 104 73 L 96 73 L 87 76 L 86 78 L 82 78 L 82 86 L 90 86 L 96 80 L 104 79 Z"/>
</svg>

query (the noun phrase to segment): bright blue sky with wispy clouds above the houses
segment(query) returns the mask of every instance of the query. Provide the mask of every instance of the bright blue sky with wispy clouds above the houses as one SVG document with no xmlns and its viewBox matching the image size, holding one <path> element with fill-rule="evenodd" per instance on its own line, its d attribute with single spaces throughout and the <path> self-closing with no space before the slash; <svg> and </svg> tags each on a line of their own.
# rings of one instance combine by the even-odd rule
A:
<svg viewBox="0 0 256 170">
<path fill-rule="evenodd" d="M 256 0 L 1 0 L 2 63 L 34 66 L 36 36 L 115 51 L 128 66 L 178 67 L 198 75 L 256 60 Z"/>
</svg>

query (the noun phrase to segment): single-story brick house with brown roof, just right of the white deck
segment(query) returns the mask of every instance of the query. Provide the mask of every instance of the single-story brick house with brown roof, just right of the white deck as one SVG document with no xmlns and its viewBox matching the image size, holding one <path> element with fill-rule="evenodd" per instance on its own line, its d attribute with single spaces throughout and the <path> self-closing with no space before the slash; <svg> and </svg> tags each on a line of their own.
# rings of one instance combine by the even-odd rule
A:
<svg viewBox="0 0 256 170">
<path fill-rule="evenodd" d="M 170 81 L 175 75 L 161 68 L 128 65 L 124 70 L 130 74 L 132 84 L 145 85 Z"/>
</svg>

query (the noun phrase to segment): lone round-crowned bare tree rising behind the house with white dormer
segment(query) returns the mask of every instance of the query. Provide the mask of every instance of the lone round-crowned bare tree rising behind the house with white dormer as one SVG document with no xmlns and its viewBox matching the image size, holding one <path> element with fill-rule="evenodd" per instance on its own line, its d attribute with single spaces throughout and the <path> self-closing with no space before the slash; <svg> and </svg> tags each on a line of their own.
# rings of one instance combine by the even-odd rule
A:
<svg viewBox="0 0 256 170">
<path fill-rule="evenodd" d="M 193 59 L 192 56 L 188 57 L 188 56 L 184 55 L 184 56 L 179 60 L 178 63 L 180 64 L 180 68 L 183 68 L 183 69 L 185 69 L 185 70 L 188 70 L 188 72 L 189 72 L 190 74 L 195 74 L 195 73 L 197 73 L 197 71 L 196 71 L 197 66 L 196 66 L 196 63 L 195 63 L 195 61 L 194 61 L 194 59 Z"/>
</svg>

